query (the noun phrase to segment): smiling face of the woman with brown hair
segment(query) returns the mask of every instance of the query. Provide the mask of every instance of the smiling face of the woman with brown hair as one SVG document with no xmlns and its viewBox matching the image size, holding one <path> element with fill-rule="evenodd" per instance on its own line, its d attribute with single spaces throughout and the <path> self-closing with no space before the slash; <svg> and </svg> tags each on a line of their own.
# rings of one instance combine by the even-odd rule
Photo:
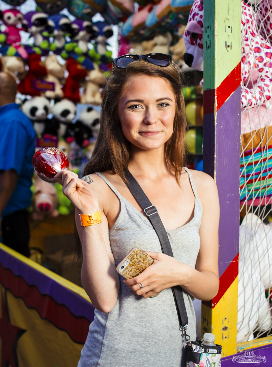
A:
<svg viewBox="0 0 272 367">
<path fill-rule="evenodd" d="M 158 149 L 173 133 L 175 96 L 163 78 L 137 76 L 125 88 L 118 116 L 126 139 L 140 149 Z"/>
</svg>

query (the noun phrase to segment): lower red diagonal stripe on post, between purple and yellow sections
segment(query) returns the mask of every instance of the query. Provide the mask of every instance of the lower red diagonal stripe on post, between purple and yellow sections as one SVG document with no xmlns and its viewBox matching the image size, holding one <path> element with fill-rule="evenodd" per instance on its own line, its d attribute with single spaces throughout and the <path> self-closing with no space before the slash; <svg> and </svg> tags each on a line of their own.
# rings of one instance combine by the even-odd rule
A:
<svg viewBox="0 0 272 367">
<path fill-rule="evenodd" d="M 204 305 L 209 306 L 210 308 L 214 308 L 216 306 L 216 304 L 220 301 L 225 292 L 228 290 L 228 288 L 236 279 L 238 275 L 238 265 L 239 265 L 239 252 L 232 260 L 232 262 L 229 264 L 224 273 L 221 275 L 219 279 L 219 290 L 216 297 L 214 297 L 210 301 L 202 301 Z"/>
</svg>

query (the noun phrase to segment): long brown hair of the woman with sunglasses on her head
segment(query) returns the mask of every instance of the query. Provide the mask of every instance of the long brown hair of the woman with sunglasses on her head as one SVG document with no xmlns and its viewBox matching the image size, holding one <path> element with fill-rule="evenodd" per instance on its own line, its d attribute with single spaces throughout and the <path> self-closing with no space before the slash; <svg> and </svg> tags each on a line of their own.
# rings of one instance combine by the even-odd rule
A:
<svg viewBox="0 0 272 367">
<path fill-rule="evenodd" d="M 185 163 L 186 118 L 180 73 L 170 64 L 166 67 L 152 65 L 146 61 L 136 61 L 126 69 L 113 69 L 107 80 L 101 105 L 100 130 L 91 159 L 84 168 L 83 175 L 94 172 L 113 171 L 125 181 L 124 169 L 131 159 L 131 144 L 124 137 L 118 116 L 118 102 L 128 83 L 139 75 L 165 79 L 176 98 L 173 134 L 165 144 L 165 159 L 169 169 L 175 172 L 179 183 Z M 80 239 L 76 232 L 76 254 L 82 258 Z"/>
</svg>

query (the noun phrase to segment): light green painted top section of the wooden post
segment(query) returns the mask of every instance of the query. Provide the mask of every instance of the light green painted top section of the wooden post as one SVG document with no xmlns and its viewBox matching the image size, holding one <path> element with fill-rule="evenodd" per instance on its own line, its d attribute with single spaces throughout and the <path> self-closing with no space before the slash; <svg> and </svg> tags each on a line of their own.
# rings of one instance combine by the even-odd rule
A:
<svg viewBox="0 0 272 367">
<path fill-rule="evenodd" d="M 204 90 L 241 62 L 241 0 L 204 0 Z"/>
</svg>

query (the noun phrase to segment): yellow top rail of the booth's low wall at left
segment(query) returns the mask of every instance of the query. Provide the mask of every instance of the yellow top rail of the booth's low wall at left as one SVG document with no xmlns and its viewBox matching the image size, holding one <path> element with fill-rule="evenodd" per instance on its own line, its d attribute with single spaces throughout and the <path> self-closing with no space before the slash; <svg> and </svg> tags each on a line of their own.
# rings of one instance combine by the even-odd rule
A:
<svg viewBox="0 0 272 367">
<path fill-rule="evenodd" d="M 24 262 L 25 264 L 38 270 L 39 272 L 43 273 L 44 275 L 48 276 L 49 278 L 55 280 L 57 283 L 61 284 L 63 287 L 68 288 L 70 291 L 86 299 L 86 301 L 92 303 L 91 300 L 89 299 L 89 296 L 87 295 L 87 293 L 85 292 L 85 290 L 82 287 L 79 287 L 76 284 L 72 283 L 71 281 L 64 279 L 62 276 L 54 272 L 51 272 L 51 270 L 48 270 L 47 268 L 44 268 L 44 266 L 37 264 L 37 262 L 30 260 L 29 258 L 19 254 L 19 252 L 12 250 L 10 247 L 5 246 L 3 243 L 0 243 L 0 248 L 1 250 L 7 252 L 8 254 L 14 256 L 16 259 Z"/>
</svg>

